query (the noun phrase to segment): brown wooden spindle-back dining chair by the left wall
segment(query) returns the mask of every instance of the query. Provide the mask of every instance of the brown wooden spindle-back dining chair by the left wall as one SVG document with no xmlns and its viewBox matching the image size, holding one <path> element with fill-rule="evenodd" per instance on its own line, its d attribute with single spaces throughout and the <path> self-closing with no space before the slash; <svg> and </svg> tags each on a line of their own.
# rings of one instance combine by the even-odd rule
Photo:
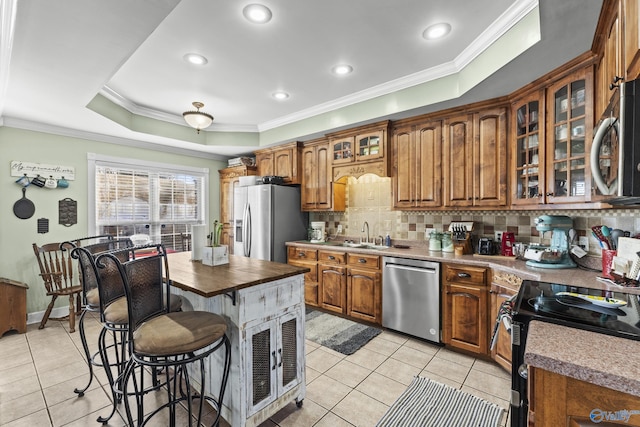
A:
<svg viewBox="0 0 640 427">
<path fill-rule="evenodd" d="M 82 309 L 82 284 L 78 274 L 78 265 L 70 257 L 69 251 L 60 250 L 60 243 L 47 243 L 42 246 L 33 244 L 33 253 L 38 260 L 40 277 L 44 282 L 47 295 L 51 302 L 42 317 L 38 329 L 44 328 L 49 320 L 51 310 L 58 297 L 69 297 L 69 314 L 54 320 L 69 319 L 69 332 L 76 330 L 76 314 Z"/>
</svg>

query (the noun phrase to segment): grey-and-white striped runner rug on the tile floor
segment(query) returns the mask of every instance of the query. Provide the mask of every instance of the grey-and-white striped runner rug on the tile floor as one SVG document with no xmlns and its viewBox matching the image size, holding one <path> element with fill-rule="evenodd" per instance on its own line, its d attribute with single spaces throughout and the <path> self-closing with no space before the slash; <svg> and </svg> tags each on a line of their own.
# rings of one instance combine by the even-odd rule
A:
<svg viewBox="0 0 640 427">
<path fill-rule="evenodd" d="M 376 427 L 497 427 L 502 412 L 462 390 L 415 377 Z"/>
</svg>

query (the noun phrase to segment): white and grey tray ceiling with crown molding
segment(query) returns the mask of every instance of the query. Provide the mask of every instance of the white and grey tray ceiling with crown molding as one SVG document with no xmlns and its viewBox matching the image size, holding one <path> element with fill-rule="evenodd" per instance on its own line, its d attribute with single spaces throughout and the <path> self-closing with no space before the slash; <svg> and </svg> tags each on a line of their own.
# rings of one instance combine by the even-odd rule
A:
<svg viewBox="0 0 640 427">
<path fill-rule="evenodd" d="M 0 0 L 0 125 L 233 157 L 507 95 L 589 50 L 602 7 L 266 0 L 273 19 L 253 24 L 251 2 Z M 422 38 L 438 22 L 451 32 Z M 333 75 L 341 63 L 353 73 Z M 279 90 L 289 98 L 275 100 Z M 182 119 L 194 101 L 215 117 L 200 135 Z"/>
</svg>

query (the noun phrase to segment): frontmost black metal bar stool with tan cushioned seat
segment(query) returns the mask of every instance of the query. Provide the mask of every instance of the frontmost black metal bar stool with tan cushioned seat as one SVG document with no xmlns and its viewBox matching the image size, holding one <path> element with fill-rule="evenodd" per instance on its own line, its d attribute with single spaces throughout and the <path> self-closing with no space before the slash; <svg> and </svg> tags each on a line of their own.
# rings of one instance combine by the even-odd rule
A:
<svg viewBox="0 0 640 427">
<path fill-rule="evenodd" d="M 163 245 L 156 245 L 153 255 L 130 257 L 122 262 L 118 251 L 100 255 L 99 269 L 118 268 L 128 307 L 129 361 L 123 378 L 123 393 L 133 386 L 136 395 L 137 425 L 145 425 L 154 415 L 168 409 L 170 425 L 175 425 L 176 405 L 187 402 L 189 426 L 193 422 L 192 402 L 199 400 L 197 424 L 200 426 L 204 400 L 212 403 L 217 411 L 213 422 L 219 425 L 224 392 L 229 376 L 231 344 L 226 335 L 227 324 L 223 317 L 205 311 L 170 312 L 170 276 Z M 131 250 L 136 251 L 136 248 Z M 166 280 L 163 280 L 163 269 Z M 217 398 L 205 395 L 206 358 L 224 346 L 225 362 Z M 191 391 L 188 365 L 197 363 L 200 372 L 200 389 Z M 163 368 L 166 375 L 167 402 L 145 417 L 143 375 L 138 380 L 134 369 L 138 367 Z M 197 371 L 198 369 L 195 369 Z M 184 386 L 184 387 L 183 387 Z M 125 399 L 127 420 L 133 425 L 129 400 Z"/>
</svg>

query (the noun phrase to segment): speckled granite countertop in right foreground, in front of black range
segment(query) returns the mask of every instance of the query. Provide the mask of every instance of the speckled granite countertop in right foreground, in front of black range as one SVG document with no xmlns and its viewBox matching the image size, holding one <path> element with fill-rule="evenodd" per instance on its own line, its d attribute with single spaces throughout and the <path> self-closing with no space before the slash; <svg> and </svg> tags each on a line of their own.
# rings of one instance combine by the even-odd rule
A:
<svg viewBox="0 0 640 427">
<path fill-rule="evenodd" d="M 640 341 L 532 321 L 525 363 L 640 397 Z"/>
</svg>

